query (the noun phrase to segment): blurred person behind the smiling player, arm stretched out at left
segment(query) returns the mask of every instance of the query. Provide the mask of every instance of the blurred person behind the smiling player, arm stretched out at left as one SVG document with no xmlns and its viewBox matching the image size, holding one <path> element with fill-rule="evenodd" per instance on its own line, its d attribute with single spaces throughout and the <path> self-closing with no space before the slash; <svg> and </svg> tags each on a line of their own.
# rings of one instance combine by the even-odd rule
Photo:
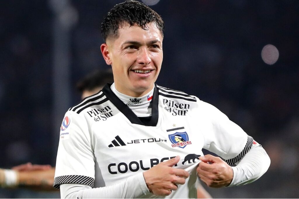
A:
<svg viewBox="0 0 299 199">
<path fill-rule="evenodd" d="M 76 88 L 81 99 L 99 92 L 107 82 L 113 82 L 111 70 L 95 70 L 80 80 Z M 55 168 L 51 165 L 26 163 L 11 169 L 0 169 L 0 187 L 28 188 L 36 191 L 56 191 L 53 188 Z"/>
</svg>

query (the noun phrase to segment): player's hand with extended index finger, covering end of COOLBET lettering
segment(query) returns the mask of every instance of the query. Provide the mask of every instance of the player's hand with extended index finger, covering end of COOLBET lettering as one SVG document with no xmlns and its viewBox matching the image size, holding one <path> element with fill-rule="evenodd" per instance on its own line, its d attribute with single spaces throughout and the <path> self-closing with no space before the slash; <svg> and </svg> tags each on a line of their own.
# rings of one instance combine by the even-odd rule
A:
<svg viewBox="0 0 299 199">
<path fill-rule="evenodd" d="M 179 160 L 180 156 L 176 156 L 143 172 L 145 183 L 151 193 L 161 196 L 170 195 L 172 190 L 178 189 L 177 184 L 185 183 L 189 173 L 184 169 L 172 168 Z"/>
</svg>

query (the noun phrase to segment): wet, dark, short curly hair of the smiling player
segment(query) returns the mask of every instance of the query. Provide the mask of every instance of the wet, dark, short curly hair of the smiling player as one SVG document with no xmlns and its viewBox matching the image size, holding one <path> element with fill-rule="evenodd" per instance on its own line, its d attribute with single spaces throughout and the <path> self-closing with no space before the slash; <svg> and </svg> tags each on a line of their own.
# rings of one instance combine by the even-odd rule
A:
<svg viewBox="0 0 299 199">
<path fill-rule="evenodd" d="M 130 26 L 137 24 L 147 30 L 147 24 L 154 22 L 163 36 L 164 22 L 161 16 L 147 5 L 135 1 L 127 0 L 116 4 L 104 17 L 101 33 L 106 42 L 109 37 L 118 37 L 118 28 L 128 23 Z"/>
</svg>

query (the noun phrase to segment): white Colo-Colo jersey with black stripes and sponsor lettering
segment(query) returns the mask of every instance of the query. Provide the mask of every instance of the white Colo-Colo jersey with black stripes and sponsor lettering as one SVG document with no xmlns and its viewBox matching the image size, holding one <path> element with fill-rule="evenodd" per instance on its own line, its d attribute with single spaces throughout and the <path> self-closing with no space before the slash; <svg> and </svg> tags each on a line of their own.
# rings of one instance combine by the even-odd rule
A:
<svg viewBox="0 0 299 199">
<path fill-rule="evenodd" d="M 142 120 L 110 87 L 107 84 L 66 112 L 55 188 L 81 184 L 109 187 L 109 192 L 117 185 L 118 191 L 124 191 L 120 194 L 123 198 L 196 198 L 196 167 L 202 148 L 232 165 L 258 145 L 225 114 L 195 96 L 155 85 L 152 115 Z M 186 183 L 166 197 L 149 193 L 142 172 L 177 155 L 181 160 L 174 167 L 190 174 Z M 130 183 L 136 184 L 135 193 L 126 194 Z M 109 194 L 103 198 L 109 198 Z"/>
</svg>

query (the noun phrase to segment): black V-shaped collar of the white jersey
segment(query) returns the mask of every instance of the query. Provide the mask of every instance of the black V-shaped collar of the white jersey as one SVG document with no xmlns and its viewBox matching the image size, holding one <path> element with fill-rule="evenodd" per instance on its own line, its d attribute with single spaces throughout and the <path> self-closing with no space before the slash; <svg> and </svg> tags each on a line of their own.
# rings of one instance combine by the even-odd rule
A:
<svg viewBox="0 0 299 199">
<path fill-rule="evenodd" d="M 152 101 L 150 102 L 152 105 L 152 116 L 150 118 L 150 121 L 148 123 L 143 123 L 138 117 L 137 115 L 135 115 L 135 113 L 126 105 L 123 103 L 123 101 L 121 101 L 115 94 L 114 92 L 111 90 L 111 85 L 110 83 L 106 84 L 102 91 L 103 93 L 106 95 L 106 97 L 109 99 L 109 101 L 112 102 L 112 104 L 115 105 L 115 107 L 120 110 L 120 112 L 123 113 L 123 115 L 125 115 L 128 120 L 132 123 L 132 124 L 140 124 L 140 125 L 144 125 L 144 126 L 150 126 L 150 127 L 155 127 L 157 126 L 158 123 L 158 118 L 159 118 L 159 111 L 158 111 L 158 88 L 155 85 L 154 88 L 154 93 L 152 96 Z"/>
</svg>

